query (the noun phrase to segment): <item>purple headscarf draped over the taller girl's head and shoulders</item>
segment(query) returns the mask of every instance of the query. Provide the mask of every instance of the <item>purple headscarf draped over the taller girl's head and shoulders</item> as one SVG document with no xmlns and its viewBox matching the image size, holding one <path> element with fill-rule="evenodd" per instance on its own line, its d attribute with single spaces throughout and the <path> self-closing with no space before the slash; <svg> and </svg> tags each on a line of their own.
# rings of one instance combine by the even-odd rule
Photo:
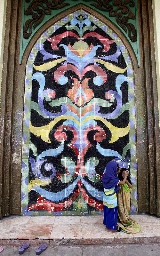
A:
<svg viewBox="0 0 160 256">
<path fill-rule="evenodd" d="M 110 161 L 106 165 L 106 172 L 103 174 L 103 187 L 106 189 L 113 188 L 117 185 L 119 179 L 117 178 L 117 163 Z M 119 185 L 116 186 L 115 191 L 118 192 Z"/>
</svg>

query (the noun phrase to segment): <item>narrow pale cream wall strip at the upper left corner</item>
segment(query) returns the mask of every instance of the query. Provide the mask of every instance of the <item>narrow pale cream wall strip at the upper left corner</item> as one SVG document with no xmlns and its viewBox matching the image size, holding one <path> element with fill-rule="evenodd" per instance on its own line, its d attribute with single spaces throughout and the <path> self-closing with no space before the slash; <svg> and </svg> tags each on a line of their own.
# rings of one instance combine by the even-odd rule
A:
<svg viewBox="0 0 160 256">
<path fill-rule="evenodd" d="M 4 32 L 5 32 L 5 17 L 6 17 L 6 0 L 0 0 L 0 94 L 1 94 L 1 80 L 3 68 L 3 51 L 4 51 Z"/>
</svg>

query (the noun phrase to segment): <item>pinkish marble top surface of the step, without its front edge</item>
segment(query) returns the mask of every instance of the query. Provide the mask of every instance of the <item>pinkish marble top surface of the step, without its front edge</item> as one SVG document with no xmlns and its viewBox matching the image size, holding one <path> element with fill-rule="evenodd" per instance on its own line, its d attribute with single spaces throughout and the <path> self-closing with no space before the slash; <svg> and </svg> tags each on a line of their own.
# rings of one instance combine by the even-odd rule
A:
<svg viewBox="0 0 160 256">
<path fill-rule="evenodd" d="M 130 216 L 140 224 L 141 232 L 108 233 L 103 216 L 11 216 L 0 220 L 0 240 L 160 237 L 160 218 L 148 214 Z"/>
</svg>

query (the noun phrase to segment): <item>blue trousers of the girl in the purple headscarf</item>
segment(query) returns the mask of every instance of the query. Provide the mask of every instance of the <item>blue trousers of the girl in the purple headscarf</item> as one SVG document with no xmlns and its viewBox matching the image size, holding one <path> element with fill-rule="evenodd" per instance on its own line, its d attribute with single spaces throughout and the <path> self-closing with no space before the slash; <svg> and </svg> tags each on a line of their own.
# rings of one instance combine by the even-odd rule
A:
<svg viewBox="0 0 160 256">
<path fill-rule="evenodd" d="M 104 219 L 103 224 L 106 228 L 116 230 L 117 225 L 117 206 L 115 208 L 108 208 L 103 204 Z"/>
</svg>

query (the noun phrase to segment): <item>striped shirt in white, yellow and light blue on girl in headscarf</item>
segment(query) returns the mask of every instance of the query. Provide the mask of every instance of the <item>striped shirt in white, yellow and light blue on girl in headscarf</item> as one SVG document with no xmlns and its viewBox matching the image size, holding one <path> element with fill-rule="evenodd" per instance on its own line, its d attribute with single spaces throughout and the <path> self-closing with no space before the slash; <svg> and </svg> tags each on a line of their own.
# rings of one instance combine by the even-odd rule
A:
<svg viewBox="0 0 160 256">
<path fill-rule="evenodd" d="M 118 186 L 119 182 L 116 186 Z M 117 206 L 117 197 L 115 187 L 103 191 L 103 204 L 108 208 L 115 208 Z"/>
</svg>

